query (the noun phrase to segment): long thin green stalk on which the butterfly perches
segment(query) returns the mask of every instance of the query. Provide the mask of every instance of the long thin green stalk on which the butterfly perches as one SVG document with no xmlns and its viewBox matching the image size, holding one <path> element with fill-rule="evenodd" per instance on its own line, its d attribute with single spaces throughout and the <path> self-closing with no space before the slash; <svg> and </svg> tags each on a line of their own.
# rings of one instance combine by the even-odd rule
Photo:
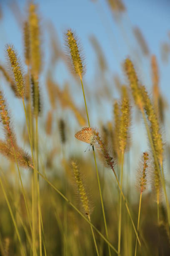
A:
<svg viewBox="0 0 170 256">
<path fill-rule="evenodd" d="M 86 99 L 85 99 L 85 91 L 84 91 L 84 87 L 83 87 L 83 83 L 82 83 L 82 78 L 81 77 L 80 77 L 80 81 L 81 81 L 81 85 L 82 85 L 82 93 L 83 93 L 84 102 L 85 102 L 85 110 L 86 110 L 86 114 L 87 114 L 88 125 L 90 127 L 89 115 L 88 115 L 87 104 L 86 104 Z M 97 169 L 97 162 L 96 162 L 96 157 L 95 157 L 94 146 L 92 146 L 92 152 L 93 152 L 93 157 L 94 157 L 94 160 L 95 160 L 95 169 L 96 169 L 97 182 L 98 182 L 99 192 L 100 192 L 100 201 L 101 201 L 101 205 L 102 205 L 102 213 L 103 213 L 103 218 L 104 218 L 106 237 L 108 239 L 108 231 L 107 231 L 107 224 L 106 224 L 106 218 L 105 218 L 105 209 L 104 209 L 103 200 L 102 200 L 102 192 L 101 192 L 99 172 L 98 172 L 98 169 Z M 109 246 L 108 246 L 108 249 L 109 249 L 109 256 L 111 256 L 110 247 Z"/>
</svg>

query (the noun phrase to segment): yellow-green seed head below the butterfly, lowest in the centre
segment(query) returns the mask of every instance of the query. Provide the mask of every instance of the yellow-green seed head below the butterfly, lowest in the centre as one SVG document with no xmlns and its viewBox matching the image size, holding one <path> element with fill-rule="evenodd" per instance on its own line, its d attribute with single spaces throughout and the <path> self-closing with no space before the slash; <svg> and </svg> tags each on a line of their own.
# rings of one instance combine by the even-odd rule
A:
<svg viewBox="0 0 170 256">
<path fill-rule="evenodd" d="M 78 193 L 80 195 L 83 212 L 85 212 L 86 215 L 90 215 L 90 202 L 83 184 L 82 175 L 80 174 L 80 170 L 78 169 L 77 164 L 74 161 L 72 161 L 71 164 L 75 182 L 78 188 Z"/>
</svg>

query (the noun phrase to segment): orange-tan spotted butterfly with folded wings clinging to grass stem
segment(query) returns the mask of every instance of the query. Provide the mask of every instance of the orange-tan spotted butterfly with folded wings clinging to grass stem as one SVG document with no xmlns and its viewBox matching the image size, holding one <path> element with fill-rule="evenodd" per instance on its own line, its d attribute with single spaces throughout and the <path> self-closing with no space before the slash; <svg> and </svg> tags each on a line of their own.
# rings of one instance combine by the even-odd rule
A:
<svg viewBox="0 0 170 256">
<path fill-rule="evenodd" d="M 75 138 L 79 141 L 84 141 L 86 143 L 90 143 L 91 146 L 95 143 L 95 136 L 90 127 L 84 127 L 77 133 L 75 133 Z"/>
</svg>

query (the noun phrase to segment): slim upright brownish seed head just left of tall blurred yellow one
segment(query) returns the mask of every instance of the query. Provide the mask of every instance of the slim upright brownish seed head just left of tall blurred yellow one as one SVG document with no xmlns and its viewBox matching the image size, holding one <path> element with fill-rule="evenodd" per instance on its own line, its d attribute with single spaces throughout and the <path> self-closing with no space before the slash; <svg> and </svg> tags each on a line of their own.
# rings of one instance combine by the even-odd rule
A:
<svg viewBox="0 0 170 256">
<path fill-rule="evenodd" d="M 27 21 L 24 22 L 23 33 L 24 33 L 25 64 L 29 66 L 30 64 L 30 31 L 29 31 L 29 24 Z"/>
</svg>

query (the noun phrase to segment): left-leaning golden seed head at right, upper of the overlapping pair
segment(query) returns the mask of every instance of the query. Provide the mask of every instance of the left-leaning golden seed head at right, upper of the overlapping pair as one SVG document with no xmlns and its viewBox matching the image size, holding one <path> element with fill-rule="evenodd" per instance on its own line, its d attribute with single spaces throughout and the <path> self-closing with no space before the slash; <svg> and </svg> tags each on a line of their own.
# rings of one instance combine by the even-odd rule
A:
<svg viewBox="0 0 170 256">
<path fill-rule="evenodd" d="M 123 67 L 124 67 L 125 73 L 128 77 L 135 103 L 141 109 L 143 107 L 143 97 L 140 92 L 138 77 L 135 72 L 132 61 L 130 59 L 125 59 Z"/>
</svg>

